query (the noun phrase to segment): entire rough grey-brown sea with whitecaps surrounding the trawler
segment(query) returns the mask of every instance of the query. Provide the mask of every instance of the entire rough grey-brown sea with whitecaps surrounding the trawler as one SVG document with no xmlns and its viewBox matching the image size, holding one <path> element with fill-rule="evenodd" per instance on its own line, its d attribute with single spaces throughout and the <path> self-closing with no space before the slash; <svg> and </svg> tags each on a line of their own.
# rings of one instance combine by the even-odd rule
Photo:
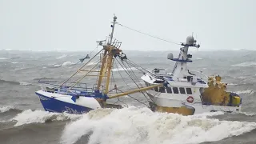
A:
<svg viewBox="0 0 256 144">
<path fill-rule="evenodd" d="M 200 51 L 193 48 L 189 51 L 193 54 L 193 62 L 188 68 L 222 76 L 222 82 L 228 83 L 227 89 L 242 97 L 241 114 L 214 112 L 182 116 L 154 113 L 129 97 L 122 98 L 128 106 L 120 110 L 98 109 L 82 115 L 49 113 L 43 110 L 35 94 L 41 89 L 38 80 L 69 78 L 82 66 L 78 59 L 88 52 L 0 50 L 0 143 L 256 143 L 256 51 Z M 164 68 L 171 72 L 174 67 L 174 62 L 166 58 L 168 51 L 124 50 L 124 53 L 148 70 Z M 173 53 L 174 57 L 178 56 L 178 50 Z M 134 71 L 138 78 L 142 76 L 138 70 Z M 124 71 L 122 74 L 132 85 Z M 120 76 L 116 82 L 119 86 L 124 83 Z M 143 101 L 143 97 L 140 98 Z"/>
</svg>

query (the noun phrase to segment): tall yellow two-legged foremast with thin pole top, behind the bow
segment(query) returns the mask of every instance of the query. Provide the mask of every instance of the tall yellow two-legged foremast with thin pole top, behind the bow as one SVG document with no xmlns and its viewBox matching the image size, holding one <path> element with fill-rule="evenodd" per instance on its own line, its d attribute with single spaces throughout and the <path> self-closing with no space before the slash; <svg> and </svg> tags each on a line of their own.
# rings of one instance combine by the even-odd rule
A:
<svg viewBox="0 0 256 144">
<path fill-rule="evenodd" d="M 113 56 L 114 56 L 112 53 L 112 50 L 117 49 L 115 46 L 111 45 L 113 40 L 113 35 L 114 35 L 114 25 L 117 23 L 116 21 L 117 21 L 117 17 L 114 15 L 113 22 L 112 22 L 113 25 L 111 25 L 112 32 L 110 34 L 110 40 L 109 42 L 107 42 L 106 46 L 103 46 L 104 54 L 103 54 L 101 70 L 98 78 L 97 90 L 100 90 L 102 86 L 102 78 L 106 77 L 106 85 L 105 85 L 106 87 L 105 87 L 105 91 L 103 92 L 104 94 L 107 94 L 109 91 L 110 74 L 111 74 L 111 68 L 112 68 Z"/>
</svg>

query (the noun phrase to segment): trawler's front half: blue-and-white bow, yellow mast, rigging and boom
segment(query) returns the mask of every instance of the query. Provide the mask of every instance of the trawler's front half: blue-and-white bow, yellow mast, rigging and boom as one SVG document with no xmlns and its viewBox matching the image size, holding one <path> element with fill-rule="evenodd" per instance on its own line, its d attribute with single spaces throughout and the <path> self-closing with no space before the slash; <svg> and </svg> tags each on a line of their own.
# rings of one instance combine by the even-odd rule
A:
<svg viewBox="0 0 256 144">
<path fill-rule="evenodd" d="M 119 49 L 122 42 L 113 37 L 114 26 L 117 24 L 116 20 L 117 17 L 114 16 L 110 36 L 106 40 L 98 41 L 98 46 L 103 47 L 102 50 L 98 51 L 70 78 L 61 82 L 39 80 L 40 83 L 46 86 L 42 86 L 42 90 L 36 91 L 35 94 L 38 95 L 44 110 L 57 113 L 83 114 L 98 108 L 122 108 L 121 105 L 108 103 L 107 100 L 165 84 L 163 82 L 154 86 L 138 86 L 137 89 L 126 91 L 119 89 L 118 84 L 114 84 L 113 89 L 110 89 L 110 84 L 114 83 L 112 73 L 114 62 L 119 62 L 123 67 L 128 66 L 126 54 Z M 94 61 L 95 59 L 96 61 Z M 89 64 L 92 61 L 94 61 L 94 65 Z M 130 69 L 126 67 L 126 70 Z M 86 79 L 86 82 L 82 82 L 84 79 Z M 92 82 L 93 80 L 96 82 Z"/>
</svg>

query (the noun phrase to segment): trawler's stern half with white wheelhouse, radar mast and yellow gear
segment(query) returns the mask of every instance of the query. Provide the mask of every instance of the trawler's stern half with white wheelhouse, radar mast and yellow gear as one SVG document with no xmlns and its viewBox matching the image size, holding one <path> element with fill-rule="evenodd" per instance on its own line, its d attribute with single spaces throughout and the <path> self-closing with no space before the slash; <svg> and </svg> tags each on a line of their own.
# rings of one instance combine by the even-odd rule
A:
<svg viewBox="0 0 256 144">
<path fill-rule="evenodd" d="M 150 108 L 154 111 L 178 113 L 183 115 L 201 114 L 211 111 L 240 112 L 242 98 L 238 94 L 226 92 L 226 83 L 221 82 L 221 77 L 207 77 L 202 72 L 193 74 L 188 70 L 186 63 L 192 62 L 188 53 L 190 46 L 199 48 L 194 37 L 186 38 L 182 43 L 178 58 L 168 54 L 167 59 L 175 63 L 171 74 L 160 74 L 160 69 L 144 74 L 142 80 L 146 86 L 156 86 L 167 82 L 167 86 L 158 86 L 146 90 L 152 100 Z M 199 75 L 200 74 L 200 75 Z M 208 82 L 202 78 L 208 78 Z"/>
</svg>

